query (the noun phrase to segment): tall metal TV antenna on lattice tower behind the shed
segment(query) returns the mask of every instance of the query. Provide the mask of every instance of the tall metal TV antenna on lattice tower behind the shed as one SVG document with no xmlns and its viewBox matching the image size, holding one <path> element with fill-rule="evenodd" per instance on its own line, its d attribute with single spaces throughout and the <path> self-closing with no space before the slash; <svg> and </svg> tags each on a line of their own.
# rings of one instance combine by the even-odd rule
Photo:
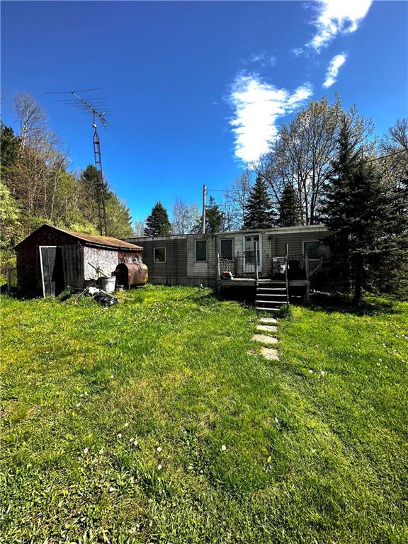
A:
<svg viewBox="0 0 408 544">
<path fill-rule="evenodd" d="M 84 98 L 79 96 L 79 93 L 89 93 L 91 91 L 100 91 L 100 88 L 96 89 L 81 89 L 80 91 L 48 91 L 45 94 L 69 94 L 69 98 L 61 98 L 57 102 L 62 102 L 67 106 L 72 106 L 81 111 L 90 112 L 92 114 L 92 128 L 94 129 L 94 162 L 98 176 L 98 183 L 96 186 L 97 191 L 97 203 L 98 203 L 98 227 L 99 234 L 106 235 L 107 223 L 106 223 L 106 205 L 105 205 L 105 192 L 106 188 L 103 183 L 103 171 L 102 171 L 102 155 L 101 155 L 101 140 L 98 135 L 98 126 L 96 121 L 99 120 L 104 129 L 107 129 L 110 124 L 106 120 L 106 98 L 103 96 Z"/>
</svg>

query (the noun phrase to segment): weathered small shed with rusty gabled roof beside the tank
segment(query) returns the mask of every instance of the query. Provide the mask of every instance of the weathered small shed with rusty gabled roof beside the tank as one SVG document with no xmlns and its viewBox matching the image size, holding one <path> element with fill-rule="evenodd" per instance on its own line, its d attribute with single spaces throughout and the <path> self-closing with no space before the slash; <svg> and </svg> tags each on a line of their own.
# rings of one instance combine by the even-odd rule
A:
<svg viewBox="0 0 408 544">
<path fill-rule="evenodd" d="M 142 263 L 142 247 L 130 242 L 42 225 L 16 246 L 18 289 L 26 295 L 58 295 L 113 276 L 118 263 Z"/>
</svg>

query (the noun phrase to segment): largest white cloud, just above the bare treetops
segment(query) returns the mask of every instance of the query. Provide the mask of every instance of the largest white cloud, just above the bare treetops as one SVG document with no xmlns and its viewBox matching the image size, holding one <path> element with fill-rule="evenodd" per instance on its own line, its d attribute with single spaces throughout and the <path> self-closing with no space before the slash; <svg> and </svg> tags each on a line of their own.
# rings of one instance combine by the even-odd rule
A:
<svg viewBox="0 0 408 544">
<path fill-rule="evenodd" d="M 235 108 L 230 121 L 235 156 L 244 162 L 259 159 L 268 151 L 268 142 L 278 135 L 278 119 L 295 111 L 312 94 L 312 86 L 307 83 L 290 93 L 261 81 L 257 75 L 238 76 L 229 96 Z"/>
</svg>

